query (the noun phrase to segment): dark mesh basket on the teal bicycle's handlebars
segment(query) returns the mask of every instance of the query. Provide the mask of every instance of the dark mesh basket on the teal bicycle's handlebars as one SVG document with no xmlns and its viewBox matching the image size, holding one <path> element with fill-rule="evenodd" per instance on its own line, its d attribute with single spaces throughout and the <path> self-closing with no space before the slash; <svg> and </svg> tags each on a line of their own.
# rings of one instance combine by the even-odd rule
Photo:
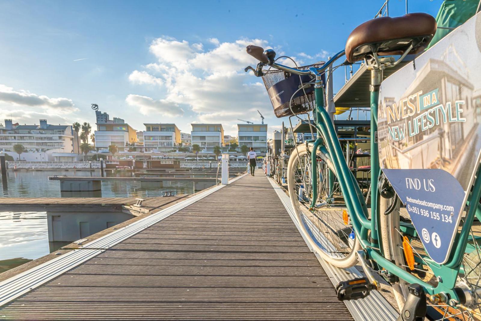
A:
<svg viewBox="0 0 481 321">
<path fill-rule="evenodd" d="M 299 67 L 298 69 L 306 70 L 311 67 L 320 68 L 323 64 L 325 64 L 325 62 L 321 61 L 316 64 Z M 314 85 L 305 88 L 304 90 L 297 91 L 301 88 L 301 81 L 304 84 L 313 79 L 314 77 L 310 75 L 299 77 L 298 75 L 293 75 L 282 70 L 267 71 L 265 75 L 262 76 L 264 86 L 266 86 L 276 117 L 280 118 L 284 116 L 306 114 L 314 110 L 314 106 L 316 105 Z M 324 84 L 326 83 L 324 74 L 322 74 L 322 81 Z M 291 108 L 289 108 L 290 103 Z"/>
</svg>

